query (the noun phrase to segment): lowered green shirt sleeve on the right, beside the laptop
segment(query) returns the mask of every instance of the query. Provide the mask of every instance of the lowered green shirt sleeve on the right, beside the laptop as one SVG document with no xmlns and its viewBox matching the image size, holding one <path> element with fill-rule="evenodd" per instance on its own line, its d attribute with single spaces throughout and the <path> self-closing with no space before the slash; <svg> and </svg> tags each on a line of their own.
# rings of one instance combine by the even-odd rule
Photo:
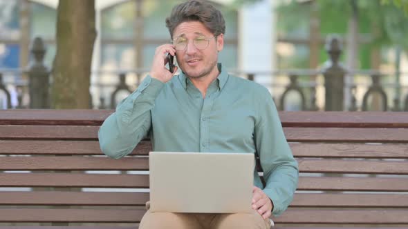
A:
<svg viewBox="0 0 408 229">
<path fill-rule="evenodd" d="M 259 117 L 255 126 L 255 144 L 263 168 L 266 187 L 263 192 L 272 200 L 272 214 L 281 215 L 297 188 L 299 169 L 286 141 L 275 103 L 267 92 L 264 103 L 259 104 Z"/>
</svg>

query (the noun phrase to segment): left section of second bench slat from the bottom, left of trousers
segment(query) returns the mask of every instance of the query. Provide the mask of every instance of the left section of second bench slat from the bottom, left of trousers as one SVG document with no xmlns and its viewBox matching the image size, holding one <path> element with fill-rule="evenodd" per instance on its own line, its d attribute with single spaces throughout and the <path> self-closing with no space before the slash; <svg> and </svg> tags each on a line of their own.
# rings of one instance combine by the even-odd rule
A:
<svg viewBox="0 0 408 229">
<path fill-rule="evenodd" d="M 138 223 L 146 210 L 0 209 L 0 222 Z"/>
</svg>

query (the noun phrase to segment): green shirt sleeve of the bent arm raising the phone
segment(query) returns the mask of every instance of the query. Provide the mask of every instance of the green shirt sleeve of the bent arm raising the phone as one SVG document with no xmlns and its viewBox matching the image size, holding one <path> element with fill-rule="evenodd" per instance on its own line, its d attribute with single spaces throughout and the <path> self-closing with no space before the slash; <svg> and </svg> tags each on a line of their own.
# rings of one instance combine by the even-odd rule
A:
<svg viewBox="0 0 408 229">
<path fill-rule="evenodd" d="M 121 101 L 98 130 L 100 148 L 118 159 L 128 155 L 151 129 L 151 109 L 165 83 L 147 76 L 137 90 Z"/>
</svg>

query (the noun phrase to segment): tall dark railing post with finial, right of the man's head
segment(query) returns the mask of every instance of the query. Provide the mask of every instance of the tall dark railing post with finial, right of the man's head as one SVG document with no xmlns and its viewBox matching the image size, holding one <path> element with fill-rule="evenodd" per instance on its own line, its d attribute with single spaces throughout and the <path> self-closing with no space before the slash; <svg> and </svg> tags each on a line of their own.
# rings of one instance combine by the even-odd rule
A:
<svg viewBox="0 0 408 229">
<path fill-rule="evenodd" d="M 330 57 L 322 69 L 326 89 L 324 110 L 341 111 L 344 104 L 344 76 L 346 69 L 339 63 L 342 54 L 340 37 L 332 36 L 326 40 L 326 51 Z"/>
</svg>

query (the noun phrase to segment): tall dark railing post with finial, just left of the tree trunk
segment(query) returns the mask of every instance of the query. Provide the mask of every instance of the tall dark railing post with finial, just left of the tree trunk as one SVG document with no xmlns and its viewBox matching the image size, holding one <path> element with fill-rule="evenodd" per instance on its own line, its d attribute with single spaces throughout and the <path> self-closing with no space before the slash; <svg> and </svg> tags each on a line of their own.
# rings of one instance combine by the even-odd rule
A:
<svg viewBox="0 0 408 229">
<path fill-rule="evenodd" d="M 44 66 L 44 55 L 46 54 L 44 41 L 36 37 L 30 51 L 34 55 L 34 61 L 28 66 L 30 108 L 49 108 L 50 72 Z"/>
</svg>

